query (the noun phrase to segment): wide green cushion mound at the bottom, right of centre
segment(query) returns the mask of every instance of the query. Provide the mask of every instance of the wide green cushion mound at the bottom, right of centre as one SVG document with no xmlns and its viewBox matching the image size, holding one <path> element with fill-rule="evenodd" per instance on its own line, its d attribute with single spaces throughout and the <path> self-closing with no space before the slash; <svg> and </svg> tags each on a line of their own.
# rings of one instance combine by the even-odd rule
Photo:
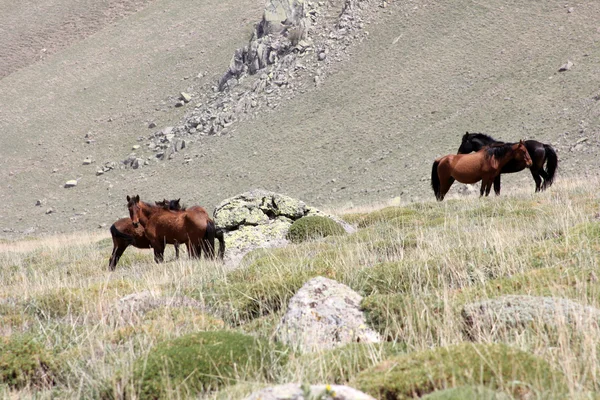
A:
<svg viewBox="0 0 600 400">
<path fill-rule="evenodd" d="M 379 399 L 411 399 L 439 389 L 483 385 L 520 397 L 561 398 L 564 376 L 546 361 L 504 344 L 440 347 L 383 361 L 351 386 Z"/>
</svg>

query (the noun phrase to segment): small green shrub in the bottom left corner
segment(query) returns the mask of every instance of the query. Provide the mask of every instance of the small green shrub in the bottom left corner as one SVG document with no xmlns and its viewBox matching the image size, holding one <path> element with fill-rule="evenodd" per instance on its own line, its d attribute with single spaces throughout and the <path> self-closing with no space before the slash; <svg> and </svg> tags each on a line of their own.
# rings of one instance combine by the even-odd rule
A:
<svg viewBox="0 0 600 400">
<path fill-rule="evenodd" d="M 0 338 L 0 384 L 13 389 L 46 388 L 54 384 L 56 372 L 53 355 L 34 338 Z"/>
</svg>

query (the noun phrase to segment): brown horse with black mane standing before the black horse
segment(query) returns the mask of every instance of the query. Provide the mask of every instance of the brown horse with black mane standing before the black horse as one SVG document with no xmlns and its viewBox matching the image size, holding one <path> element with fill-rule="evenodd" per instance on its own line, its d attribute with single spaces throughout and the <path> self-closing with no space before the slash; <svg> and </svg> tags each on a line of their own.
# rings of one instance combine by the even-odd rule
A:
<svg viewBox="0 0 600 400">
<path fill-rule="evenodd" d="M 490 194 L 492 182 L 500 175 L 502 168 L 511 160 L 523 162 L 527 167 L 532 165 L 531 157 L 525 144 L 495 144 L 484 147 L 471 154 L 448 154 L 433 162 L 431 168 L 431 187 L 438 201 L 450 190 L 455 180 L 462 183 L 481 181 L 479 196 Z"/>
</svg>

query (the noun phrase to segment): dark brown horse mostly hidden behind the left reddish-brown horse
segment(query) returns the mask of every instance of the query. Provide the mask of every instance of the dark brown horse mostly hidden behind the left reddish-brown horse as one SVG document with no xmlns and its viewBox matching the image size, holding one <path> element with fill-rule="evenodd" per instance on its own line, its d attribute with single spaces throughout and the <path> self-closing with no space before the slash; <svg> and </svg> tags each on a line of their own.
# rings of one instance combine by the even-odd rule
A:
<svg viewBox="0 0 600 400">
<path fill-rule="evenodd" d="M 163 200 L 155 202 L 157 205 L 167 207 L 171 210 L 181 210 L 179 200 Z M 144 228 L 141 226 L 134 227 L 131 218 L 121 218 L 115 221 L 110 227 L 110 234 L 113 239 L 113 251 L 108 261 L 108 268 L 114 271 L 117 268 L 117 263 L 123 255 L 123 252 L 130 245 L 138 249 L 149 249 L 150 241 L 144 233 Z M 175 243 L 175 257 L 179 258 L 179 244 Z"/>
</svg>

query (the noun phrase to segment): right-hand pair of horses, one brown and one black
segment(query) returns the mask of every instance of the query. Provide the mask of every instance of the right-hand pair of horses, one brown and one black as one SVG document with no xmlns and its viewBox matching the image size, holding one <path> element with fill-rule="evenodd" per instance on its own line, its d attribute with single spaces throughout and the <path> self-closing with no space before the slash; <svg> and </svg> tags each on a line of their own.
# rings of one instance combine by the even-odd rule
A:
<svg viewBox="0 0 600 400">
<path fill-rule="evenodd" d="M 483 133 L 467 132 L 458 154 L 448 154 L 433 162 L 431 187 L 438 201 L 444 200 L 455 180 L 461 183 L 481 181 L 480 196 L 484 192 L 488 196 L 493 183 L 494 192 L 499 195 L 500 174 L 529 168 L 535 191 L 539 192 L 552 185 L 557 166 L 556 151 L 549 144 L 536 140 L 505 143 Z"/>
</svg>

